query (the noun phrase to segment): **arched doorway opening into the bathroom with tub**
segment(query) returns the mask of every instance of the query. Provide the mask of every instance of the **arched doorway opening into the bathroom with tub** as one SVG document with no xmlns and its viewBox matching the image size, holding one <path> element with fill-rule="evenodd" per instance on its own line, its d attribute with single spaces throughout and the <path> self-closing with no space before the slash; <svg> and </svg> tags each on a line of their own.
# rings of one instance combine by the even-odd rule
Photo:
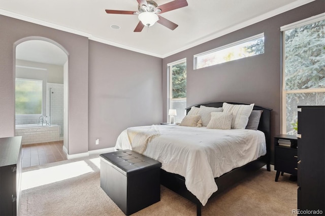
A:
<svg viewBox="0 0 325 216">
<path fill-rule="evenodd" d="M 16 135 L 23 145 L 62 140 L 68 154 L 69 53 L 55 41 L 29 37 L 14 44 L 14 54 Z M 21 127 L 37 131 L 25 135 Z"/>
</svg>

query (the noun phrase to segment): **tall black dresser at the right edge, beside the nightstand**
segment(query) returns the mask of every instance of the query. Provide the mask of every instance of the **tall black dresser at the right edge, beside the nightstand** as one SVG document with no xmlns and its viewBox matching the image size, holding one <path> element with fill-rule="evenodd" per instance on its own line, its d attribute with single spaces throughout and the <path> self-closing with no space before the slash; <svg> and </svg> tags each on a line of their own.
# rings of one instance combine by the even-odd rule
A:
<svg viewBox="0 0 325 216">
<path fill-rule="evenodd" d="M 298 106 L 298 209 L 325 214 L 325 106 Z"/>
</svg>

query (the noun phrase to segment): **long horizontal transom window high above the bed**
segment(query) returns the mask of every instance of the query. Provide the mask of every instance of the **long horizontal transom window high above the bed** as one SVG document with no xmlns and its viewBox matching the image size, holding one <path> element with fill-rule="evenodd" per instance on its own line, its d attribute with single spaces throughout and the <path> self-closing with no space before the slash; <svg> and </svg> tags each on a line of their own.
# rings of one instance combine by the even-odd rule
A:
<svg viewBox="0 0 325 216">
<path fill-rule="evenodd" d="M 194 55 L 194 69 L 264 53 L 264 33 Z"/>
</svg>

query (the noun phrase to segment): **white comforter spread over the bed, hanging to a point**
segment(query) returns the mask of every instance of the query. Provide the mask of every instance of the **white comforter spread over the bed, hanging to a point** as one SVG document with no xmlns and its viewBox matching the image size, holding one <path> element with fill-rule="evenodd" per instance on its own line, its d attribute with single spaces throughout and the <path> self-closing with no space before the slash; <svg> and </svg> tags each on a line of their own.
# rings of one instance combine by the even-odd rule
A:
<svg viewBox="0 0 325 216">
<path fill-rule="evenodd" d="M 262 131 L 156 126 L 159 135 L 150 139 L 143 155 L 160 161 L 164 170 L 184 176 L 186 188 L 203 205 L 218 189 L 214 177 L 266 154 Z M 118 149 L 133 150 L 127 129 L 117 138 L 115 150 Z"/>
</svg>

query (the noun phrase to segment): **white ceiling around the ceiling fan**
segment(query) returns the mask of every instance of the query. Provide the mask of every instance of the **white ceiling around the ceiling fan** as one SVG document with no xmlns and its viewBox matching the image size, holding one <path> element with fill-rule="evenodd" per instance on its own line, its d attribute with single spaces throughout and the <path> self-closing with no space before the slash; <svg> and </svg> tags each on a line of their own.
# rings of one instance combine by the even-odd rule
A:
<svg viewBox="0 0 325 216">
<path fill-rule="evenodd" d="M 161 14 L 179 25 L 174 31 L 156 23 L 133 32 L 139 22 L 137 15 L 105 12 L 137 11 L 136 0 L 0 0 L 0 14 L 164 58 L 312 1 L 187 0 L 187 7 Z M 158 5 L 168 2 L 156 0 Z"/>
</svg>

